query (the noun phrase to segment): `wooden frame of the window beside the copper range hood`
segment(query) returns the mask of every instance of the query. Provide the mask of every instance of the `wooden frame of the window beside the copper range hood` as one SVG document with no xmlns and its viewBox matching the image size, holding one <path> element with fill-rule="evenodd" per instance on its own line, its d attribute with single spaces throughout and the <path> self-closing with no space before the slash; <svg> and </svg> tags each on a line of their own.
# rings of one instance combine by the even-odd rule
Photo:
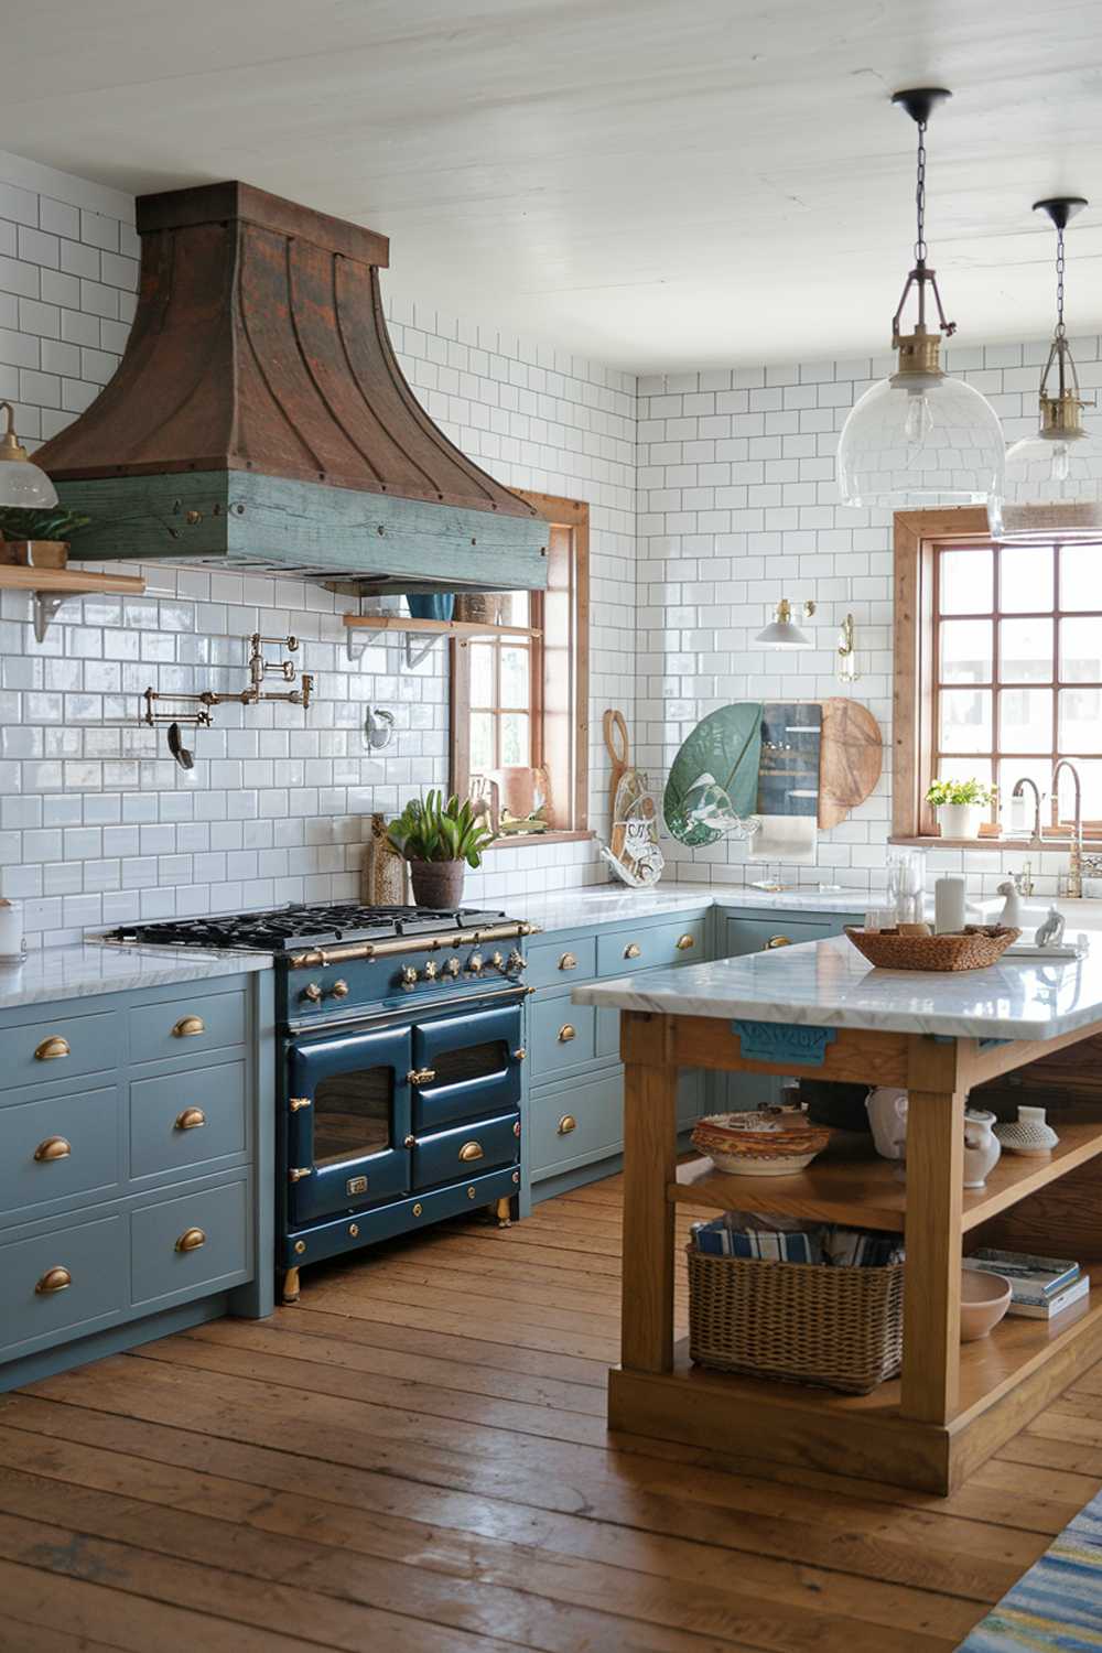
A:
<svg viewBox="0 0 1102 1653">
<path fill-rule="evenodd" d="M 570 584 L 562 592 L 532 592 L 532 764 L 547 764 L 555 817 L 567 825 L 552 831 L 499 840 L 494 848 L 519 850 L 547 843 L 572 843 L 591 838 L 590 807 L 590 507 L 583 499 L 562 499 L 517 489 L 552 529 L 550 555 L 555 557 L 555 531 L 570 536 Z M 549 569 L 553 577 L 553 565 Z M 572 648 L 568 669 L 550 658 L 547 643 L 549 600 L 565 597 L 570 605 Z M 477 641 L 477 640 L 474 640 Z M 553 646 L 553 645 L 552 645 Z M 451 724 L 451 790 L 461 795 L 471 787 L 469 717 L 469 645 L 451 641 L 449 724 Z M 558 653 L 558 650 L 555 650 Z"/>
</svg>

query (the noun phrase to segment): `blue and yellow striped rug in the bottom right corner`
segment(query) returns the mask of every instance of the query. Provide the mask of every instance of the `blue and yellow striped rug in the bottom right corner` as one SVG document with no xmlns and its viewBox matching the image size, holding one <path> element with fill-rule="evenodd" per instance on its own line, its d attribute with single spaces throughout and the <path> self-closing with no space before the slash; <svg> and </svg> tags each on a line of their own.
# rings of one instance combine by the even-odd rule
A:
<svg viewBox="0 0 1102 1653">
<path fill-rule="evenodd" d="M 957 1653 L 1102 1653 L 1102 1493 Z"/>
</svg>

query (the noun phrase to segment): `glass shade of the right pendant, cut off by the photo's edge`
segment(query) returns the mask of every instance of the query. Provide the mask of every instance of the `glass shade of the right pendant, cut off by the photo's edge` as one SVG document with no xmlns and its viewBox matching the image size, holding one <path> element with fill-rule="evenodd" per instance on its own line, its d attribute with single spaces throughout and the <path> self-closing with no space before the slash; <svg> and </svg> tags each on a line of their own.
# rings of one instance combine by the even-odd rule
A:
<svg viewBox="0 0 1102 1653">
<path fill-rule="evenodd" d="M 1102 440 L 1090 430 L 1023 436 L 1006 453 L 991 532 L 1009 544 L 1102 532 Z"/>
</svg>

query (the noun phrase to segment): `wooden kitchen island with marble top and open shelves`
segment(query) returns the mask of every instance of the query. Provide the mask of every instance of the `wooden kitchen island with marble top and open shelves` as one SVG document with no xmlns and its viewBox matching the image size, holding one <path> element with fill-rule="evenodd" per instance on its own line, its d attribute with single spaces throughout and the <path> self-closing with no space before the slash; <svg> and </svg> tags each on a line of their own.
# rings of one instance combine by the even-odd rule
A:
<svg viewBox="0 0 1102 1653">
<path fill-rule="evenodd" d="M 1102 1263 L 1102 1108 L 1087 1101 L 1057 1116 L 1051 1155 L 1005 1154 L 985 1189 L 962 1187 L 970 1091 L 1064 1051 L 1057 1074 L 1044 1071 L 1044 1099 L 1056 1104 L 1061 1068 L 1072 1088 L 1082 1065 L 1099 1068 L 1099 1045 L 1087 1041 L 1102 1035 L 1102 937 L 1069 964 L 955 975 L 872 970 L 834 939 L 593 984 L 573 997 L 621 1012 L 626 1065 L 611 1428 L 948 1493 L 1102 1355 L 1102 1291 L 1052 1322 L 1009 1316 L 960 1346 L 962 1253 L 1018 1240 L 1014 1220 L 1026 1223 L 1031 1250 Z M 1069 1060 L 1072 1046 L 1081 1065 Z M 682 1068 L 905 1088 L 905 1184 L 849 1134 L 791 1177 L 679 1165 Z M 854 1397 L 694 1367 L 687 1342 L 674 1347 L 679 1205 L 904 1233 L 902 1377 Z"/>
</svg>

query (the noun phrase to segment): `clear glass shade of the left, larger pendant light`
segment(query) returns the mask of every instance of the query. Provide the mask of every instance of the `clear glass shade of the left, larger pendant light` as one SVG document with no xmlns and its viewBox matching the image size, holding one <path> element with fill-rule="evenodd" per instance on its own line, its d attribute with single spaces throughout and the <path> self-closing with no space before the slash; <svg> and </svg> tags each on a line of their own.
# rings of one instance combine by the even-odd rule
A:
<svg viewBox="0 0 1102 1653">
<path fill-rule="evenodd" d="M 988 504 L 1001 498 L 1003 430 L 963 379 L 892 374 L 861 397 L 838 441 L 844 506 Z"/>
</svg>

